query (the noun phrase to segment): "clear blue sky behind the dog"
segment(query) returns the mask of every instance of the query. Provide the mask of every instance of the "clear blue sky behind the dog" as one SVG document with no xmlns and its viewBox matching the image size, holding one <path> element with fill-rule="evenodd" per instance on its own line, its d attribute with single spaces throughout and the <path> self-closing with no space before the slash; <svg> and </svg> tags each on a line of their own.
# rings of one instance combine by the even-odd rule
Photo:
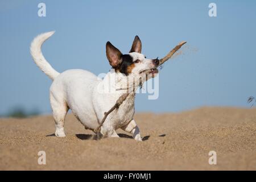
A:
<svg viewBox="0 0 256 182">
<path fill-rule="evenodd" d="M 46 17 L 38 3 L 46 3 Z M 208 5 L 215 2 L 217 17 Z M 0 1 L 0 114 L 16 106 L 51 113 L 51 80 L 31 59 L 31 40 L 55 30 L 43 46 L 59 72 L 81 68 L 96 75 L 110 66 L 105 44 L 127 53 L 134 36 L 155 58 L 186 40 L 184 55 L 159 75 L 159 98 L 138 94 L 137 111 L 183 111 L 201 106 L 250 107 L 256 96 L 255 1 Z"/>
</svg>

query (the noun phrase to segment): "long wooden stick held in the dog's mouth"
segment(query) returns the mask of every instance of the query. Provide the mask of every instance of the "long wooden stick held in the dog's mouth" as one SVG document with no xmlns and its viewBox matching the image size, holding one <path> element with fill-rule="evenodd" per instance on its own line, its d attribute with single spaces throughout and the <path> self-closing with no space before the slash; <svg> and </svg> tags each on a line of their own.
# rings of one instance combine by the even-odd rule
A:
<svg viewBox="0 0 256 182">
<path fill-rule="evenodd" d="M 172 55 L 174 55 L 174 53 L 175 53 L 177 50 L 179 50 L 185 43 L 187 43 L 187 42 L 181 42 L 181 43 L 179 43 L 179 44 L 178 44 L 175 48 L 173 48 L 166 56 L 164 56 L 162 59 L 160 59 L 160 60 L 159 60 L 159 65 L 158 65 L 158 67 L 159 67 L 160 65 L 162 65 L 164 62 L 166 62 L 168 59 L 170 59 L 170 58 L 172 57 Z M 145 74 L 148 74 L 148 73 L 150 73 L 150 72 L 151 72 L 151 70 L 148 70 L 148 71 L 146 71 L 146 72 L 144 72 L 144 73 L 145 73 Z M 135 85 L 133 85 L 133 86 L 135 86 Z M 128 90 L 129 88 L 126 88 L 126 89 Z M 118 90 L 122 90 L 122 89 L 118 89 Z M 133 92 L 135 92 L 135 89 L 133 89 Z M 132 92 L 132 93 L 133 93 L 133 92 Z M 114 105 L 113 107 L 111 107 L 111 109 L 110 109 L 109 111 L 107 111 L 107 112 L 104 113 L 104 117 L 102 118 L 102 121 L 101 121 L 100 125 L 94 130 L 95 133 L 100 132 L 100 128 L 101 128 L 101 126 L 103 125 L 103 123 L 105 122 L 105 120 L 106 120 L 106 118 L 108 117 L 108 115 L 109 115 L 110 113 L 112 113 L 113 110 L 118 109 L 118 107 L 123 103 L 123 101 L 126 100 L 126 98 L 127 98 L 130 94 L 131 94 L 131 93 L 124 93 L 124 94 L 122 94 L 122 96 L 120 96 L 120 97 L 118 98 L 117 102 L 115 102 L 115 105 Z"/>
</svg>

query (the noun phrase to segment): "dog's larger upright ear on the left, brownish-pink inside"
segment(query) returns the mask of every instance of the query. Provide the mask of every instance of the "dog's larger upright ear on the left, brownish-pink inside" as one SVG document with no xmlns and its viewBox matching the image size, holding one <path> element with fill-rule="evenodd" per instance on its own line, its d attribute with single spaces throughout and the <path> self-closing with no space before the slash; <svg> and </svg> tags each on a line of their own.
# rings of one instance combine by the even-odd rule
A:
<svg viewBox="0 0 256 182">
<path fill-rule="evenodd" d="M 112 65 L 113 68 L 117 68 L 122 62 L 122 52 L 115 48 L 110 42 L 106 43 L 106 56 L 108 57 L 109 64 Z"/>
</svg>

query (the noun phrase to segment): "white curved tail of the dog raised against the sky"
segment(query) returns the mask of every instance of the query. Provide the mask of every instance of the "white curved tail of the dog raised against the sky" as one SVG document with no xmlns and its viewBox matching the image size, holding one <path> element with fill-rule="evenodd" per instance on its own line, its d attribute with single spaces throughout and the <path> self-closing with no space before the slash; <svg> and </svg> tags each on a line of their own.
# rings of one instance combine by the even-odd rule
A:
<svg viewBox="0 0 256 182">
<path fill-rule="evenodd" d="M 51 65 L 47 62 L 47 60 L 44 58 L 41 52 L 41 46 L 50 36 L 54 34 L 54 32 L 55 31 L 46 32 L 36 36 L 36 38 L 32 41 L 30 46 L 30 53 L 32 55 L 33 60 L 35 61 L 35 64 L 52 80 L 54 80 L 54 78 L 60 75 L 60 73 L 53 69 Z"/>
</svg>

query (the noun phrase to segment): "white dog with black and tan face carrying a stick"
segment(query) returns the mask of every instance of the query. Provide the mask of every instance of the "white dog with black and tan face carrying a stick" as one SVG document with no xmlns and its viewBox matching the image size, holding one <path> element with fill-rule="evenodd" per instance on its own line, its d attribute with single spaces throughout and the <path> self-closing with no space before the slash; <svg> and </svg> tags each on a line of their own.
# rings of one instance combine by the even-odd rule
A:
<svg viewBox="0 0 256 182">
<path fill-rule="evenodd" d="M 146 59 L 141 54 L 142 43 L 138 36 L 135 36 L 130 53 L 124 55 L 110 42 L 106 43 L 106 56 L 114 72 L 107 73 L 102 80 L 82 69 L 69 69 L 59 73 L 49 65 L 41 52 L 42 44 L 53 34 L 52 31 L 38 35 L 32 41 L 30 51 L 35 64 L 53 81 L 50 88 L 50 102 L 57 137 L 65 137 L 64 121 L 69 109 L 85 129 L 94 130 L 100 125 L 104 113 L 123 94 L 116 88 L 122 88 L 127 83 L 127 78 L 138 78 L 146 70 L 151 70 L 153 76 L 158 73 L 156 67 L 159 65 L 159 60 Z M 110 79 L 112 76 L 115 76 L 114 80 Z M 106 85 L 109 88 L 114 87 L 114 92 L 100 92 Z M 103 137 L 118 137 L 115 130 L 121 128 L 131 133 L 135 140 L 142 140 L 139 128 L 133 119 L 134 98 L 135 93 L 130 94 L 118 109 L 110 113 L 98 134 Z"/>
</svg>

